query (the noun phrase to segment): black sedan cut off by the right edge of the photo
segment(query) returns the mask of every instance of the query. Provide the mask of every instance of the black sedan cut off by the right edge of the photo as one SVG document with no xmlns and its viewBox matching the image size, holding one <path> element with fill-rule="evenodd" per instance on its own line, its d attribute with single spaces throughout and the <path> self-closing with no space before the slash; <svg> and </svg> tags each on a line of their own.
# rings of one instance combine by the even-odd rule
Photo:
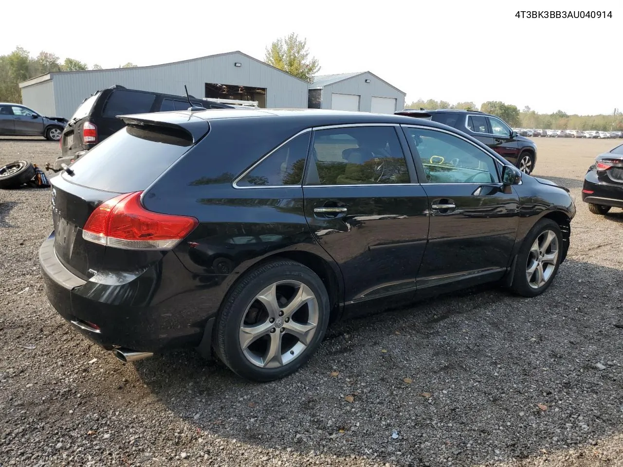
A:
<svg viewBox="0 0 623 467">
<path fill-rule="evenodd" d="M 623 208 L 623 144 L 597 156 L 584 176 L 582 200 L 593 214 Z"/>
</svg>

